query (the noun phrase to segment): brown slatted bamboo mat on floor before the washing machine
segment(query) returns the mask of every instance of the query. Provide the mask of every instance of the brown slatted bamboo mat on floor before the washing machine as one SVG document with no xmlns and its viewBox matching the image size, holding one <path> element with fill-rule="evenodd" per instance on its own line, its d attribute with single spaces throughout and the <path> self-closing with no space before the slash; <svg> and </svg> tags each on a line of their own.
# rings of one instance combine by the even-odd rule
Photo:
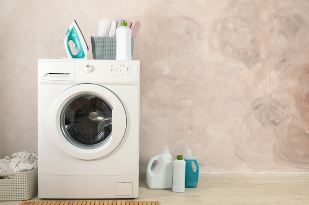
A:
<svg viewBox="0 0 309 205">
<path fill-rule="evenodd" d="M 154 201 L 129 200 L 78 200 L 78 201 L 25 201 L 20 205 L 160 205 Z"/>
</svg>

